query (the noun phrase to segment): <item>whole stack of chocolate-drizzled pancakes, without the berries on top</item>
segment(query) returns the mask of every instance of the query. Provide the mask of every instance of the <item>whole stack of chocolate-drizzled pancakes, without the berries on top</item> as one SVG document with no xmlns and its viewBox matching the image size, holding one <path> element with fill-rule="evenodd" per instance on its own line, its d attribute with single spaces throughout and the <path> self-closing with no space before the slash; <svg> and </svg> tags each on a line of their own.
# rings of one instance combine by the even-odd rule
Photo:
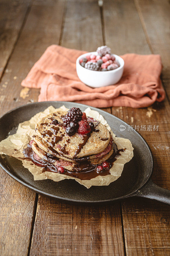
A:
<svg viewBox="0 0 170 256">
<path fill-rule="evenodd" d="M 112 154 L 112 137 L 108 129 L 93 118 L 95 129 L 87 135 L 75 133 L 68 136 L 62 122 L 67 111 L 56 111 L 42 118 L 36 125 L 36 136 L 32 150 L 41 159 L 62 166 L 69 171 L 83 171 L 81 163 L 88 161 L 91 165 L 101 164 Z"/>
</svg>

